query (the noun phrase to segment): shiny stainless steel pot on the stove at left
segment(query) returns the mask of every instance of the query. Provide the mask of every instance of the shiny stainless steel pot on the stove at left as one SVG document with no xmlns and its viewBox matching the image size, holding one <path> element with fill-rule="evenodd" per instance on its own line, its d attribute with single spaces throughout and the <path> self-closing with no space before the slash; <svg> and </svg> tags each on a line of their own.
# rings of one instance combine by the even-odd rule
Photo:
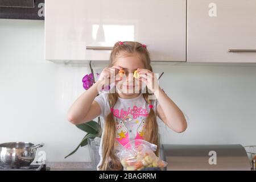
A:
<svg viewBox="0 0 256 182">
<path fill-rule="evenodd" d="M 10 142 L 0 144 L 0 166 L 29 166 L 35 159 L 36 148 L 43 143 L 34 145 L 29 142 Z"/>
</svg>

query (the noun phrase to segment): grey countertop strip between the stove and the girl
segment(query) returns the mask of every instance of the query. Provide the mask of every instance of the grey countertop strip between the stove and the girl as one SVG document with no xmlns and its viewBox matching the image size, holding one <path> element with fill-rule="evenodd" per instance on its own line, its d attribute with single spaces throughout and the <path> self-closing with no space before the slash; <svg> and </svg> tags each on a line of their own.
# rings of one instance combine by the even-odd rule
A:
<svg viewBox="0 0 256 182">
<path fill-rule="evenodd" d="M 91 162 L 47 162 L 50 171 L 93 171 Z"/>
</svg>

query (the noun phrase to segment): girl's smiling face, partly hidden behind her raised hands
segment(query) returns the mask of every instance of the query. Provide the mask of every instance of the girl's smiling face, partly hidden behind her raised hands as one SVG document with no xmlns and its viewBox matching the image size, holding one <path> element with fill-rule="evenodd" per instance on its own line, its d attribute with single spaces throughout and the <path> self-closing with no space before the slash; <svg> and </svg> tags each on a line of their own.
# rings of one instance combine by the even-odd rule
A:
<svg viewBox="0 0 256 182">
<path fill-rule="evenodd" d="M 117 87 L 119 91 L 121 91 L 125 96 L 131 96 L 135 93 L 139 93 L 139 90 L 142 89 L 142 81 L 139 78 L 134 78 L 133 74 L 137 68 L 145 69 L 143 61 L 136 55 L 128 55 L 117 57 L 114 61 L 114 65 L 122 67 L 126 73 L 126 75 L 123 76 L 123 79 L 118 81 Z"/>
</svg>

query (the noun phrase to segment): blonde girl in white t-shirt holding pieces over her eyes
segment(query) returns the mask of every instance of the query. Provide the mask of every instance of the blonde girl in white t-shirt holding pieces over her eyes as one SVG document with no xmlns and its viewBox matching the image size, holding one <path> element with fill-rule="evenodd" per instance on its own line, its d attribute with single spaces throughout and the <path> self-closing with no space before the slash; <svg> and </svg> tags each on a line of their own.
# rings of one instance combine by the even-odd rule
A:
<svg viewBox="0 0 256 182">
<path fill-rule="evenodd" d="M 75 125 L 98 115 L 103 121 L 97 170 L 122 170 L 115 154 L 133 139 L 156 144 L 155 154 L 159 156 L 156 115 L 177 133 L 187 128 L 182 111 L 159 88 L 150 62 L 144 44 L 115 43 L 109 67 L 103 69 L 98 81 L 81 94 L 68 111 L 68 120 Z M 97 96 L 99 90 L 109 84 L 114 84 L 112 89 Z"/>
</svg>

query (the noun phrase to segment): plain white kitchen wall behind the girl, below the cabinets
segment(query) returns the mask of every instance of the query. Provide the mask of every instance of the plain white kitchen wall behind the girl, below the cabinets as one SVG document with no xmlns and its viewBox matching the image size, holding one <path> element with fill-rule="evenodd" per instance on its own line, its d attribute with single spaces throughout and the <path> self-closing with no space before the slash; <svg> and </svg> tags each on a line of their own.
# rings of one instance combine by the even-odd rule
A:
<svg viewBox="0 0 256 182">
<path fill-rule="evenodd" d="M 160 85 L 188 116 L 176 134 L 160 124 L 162 143 L 256 144 L 256 67 L 154 66 Z M 90 161 L 88 148 L 64 159 L 84 133 L 67 110 L 88 68 L 44 60 L 44 22 L 0 19 L 0 143 L 45 143 L 50 162 Z"/>
</svg>

